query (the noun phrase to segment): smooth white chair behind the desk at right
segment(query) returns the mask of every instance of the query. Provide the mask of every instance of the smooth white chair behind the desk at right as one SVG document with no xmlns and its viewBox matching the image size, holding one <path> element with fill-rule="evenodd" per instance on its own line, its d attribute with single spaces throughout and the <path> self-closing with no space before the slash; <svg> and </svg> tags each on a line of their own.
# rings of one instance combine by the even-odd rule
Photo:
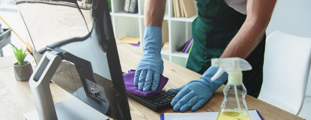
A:
<svg viewBox="0 0 311 120">
<path fill-rule="evenodd" d="M 311 38 L 280 31 L 266 41 L 258 99 L 297 115 L 304 101 L 311 62 Z"/>
</svg>

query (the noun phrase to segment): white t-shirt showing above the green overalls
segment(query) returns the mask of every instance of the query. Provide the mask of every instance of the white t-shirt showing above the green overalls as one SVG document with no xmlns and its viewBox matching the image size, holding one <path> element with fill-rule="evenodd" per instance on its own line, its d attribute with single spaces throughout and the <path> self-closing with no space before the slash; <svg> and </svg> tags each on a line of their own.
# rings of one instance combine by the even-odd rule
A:
<svg viewBox="0 0 311 120">
<path fill-rule="evenodd" d="M 234 10 L 247 15 L 246 13 L 246 3 L 247 0 L 225 0 L 228 6 L 232 7 Z"/>
</svg>

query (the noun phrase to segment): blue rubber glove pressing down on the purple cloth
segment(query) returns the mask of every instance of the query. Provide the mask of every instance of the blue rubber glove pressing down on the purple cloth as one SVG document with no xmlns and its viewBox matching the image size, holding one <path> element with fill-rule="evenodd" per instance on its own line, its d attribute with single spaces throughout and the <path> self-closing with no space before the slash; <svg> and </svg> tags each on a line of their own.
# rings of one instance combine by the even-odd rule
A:
<svg viewBox="0 0 311 120">
<path fill-rule="evenodd" d="M 143 41 L 143 53 L 136 67 L 134 85 L 138 90 L 156 91 L 163 73 L 161 58 L 162 29 L 156 26 L 146 26 Z M 152 86 L 151 86 L 152 83 Z"/>
</svg>

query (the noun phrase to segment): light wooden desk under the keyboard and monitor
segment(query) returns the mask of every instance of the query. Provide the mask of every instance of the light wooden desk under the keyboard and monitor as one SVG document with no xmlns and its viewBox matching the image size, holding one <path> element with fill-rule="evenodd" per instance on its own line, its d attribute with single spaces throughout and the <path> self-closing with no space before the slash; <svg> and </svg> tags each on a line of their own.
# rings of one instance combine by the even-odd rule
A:
<svg viewBox="0 0 311 120">
<path fill-rule="evenodd" d="M 122 71 L 127 72 L 129 69 L 135 69 L 142 54 L 142 50 L 122 42 L 117 43 Z M 11 59 L 13 60 L 15 58 L 11 57 Z M 8 59 L 6 57 L 0 58 L 0 63 L 3 63 L 3 61 L 8 61 Z M 164 60 L 163 75 L 169 78 L 164 90 L 181 87 L 189 81 L 201 77 L 200 74 L 169 62 L 168 60 Z M 223 87 L 224 85 L 196 112 L 219 111 L 224 97 L 222 92 Z M 54 103 L 73 97 L 54 83 L 50 83 L 50 88 Z M 303 120 L 303 118 L 267 104 L 252 96 L 247 95 L 246 101 L 248 109 L 257 109 L 265 120 Z M 128 102 L 133 120 L 159 120 L 160 114 L 174 112 L 172 108 L 154 112 L 132 99 L 128 99 Z M 0 69 L 0 120 L 24 120 L 25 118 L 23 118 L 22 115 L 34 109 L 35 103 L 30 93 L 28 81 L 16 81 L 12 66 Z M 188 110 L 186 112 L 189 113 L 192 111 Z"/>
</svg>

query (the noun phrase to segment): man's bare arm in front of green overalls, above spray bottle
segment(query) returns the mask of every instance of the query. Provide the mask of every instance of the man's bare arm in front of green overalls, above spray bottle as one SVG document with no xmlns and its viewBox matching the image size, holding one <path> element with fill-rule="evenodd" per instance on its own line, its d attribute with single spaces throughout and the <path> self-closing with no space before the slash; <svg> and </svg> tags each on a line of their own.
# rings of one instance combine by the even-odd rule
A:
<svg viewBox="0 0 311 120">
<path fill-rule="evenodd" d="M 275 4 L 276 0 L 248 0 L 246 20 L 220 58 L 240 57 L 245 59 L 262 39 Z"/>
</svg>

